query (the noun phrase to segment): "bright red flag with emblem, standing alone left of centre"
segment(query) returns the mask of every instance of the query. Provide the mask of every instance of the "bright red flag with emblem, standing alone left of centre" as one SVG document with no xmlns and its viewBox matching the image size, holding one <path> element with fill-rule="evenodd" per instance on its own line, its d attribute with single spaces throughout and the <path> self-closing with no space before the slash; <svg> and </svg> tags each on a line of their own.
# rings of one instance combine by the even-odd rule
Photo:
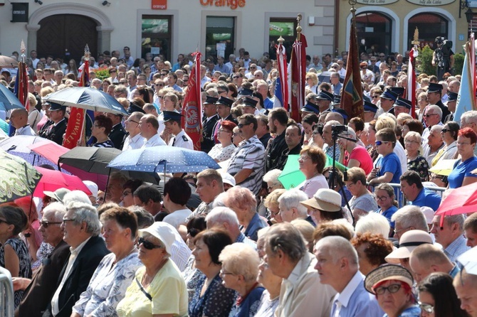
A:
<svg viewBox="0 0 477 317">
<path fill-rule="evenodd" d="M 187 93 L 184 97 L 184 107 L 182 107 L 181 125 L 188 136 L 191 137 L 194 144 L 194 150 L 200 151 L 202 136 L 202 98 L 201 98 L 201 81 L 200 81 L 200 58 L 201 53 L 194 53 L 195 61 L 192 65 L 192 72 L 189 76 L 187 84 Z"/>
</svg>

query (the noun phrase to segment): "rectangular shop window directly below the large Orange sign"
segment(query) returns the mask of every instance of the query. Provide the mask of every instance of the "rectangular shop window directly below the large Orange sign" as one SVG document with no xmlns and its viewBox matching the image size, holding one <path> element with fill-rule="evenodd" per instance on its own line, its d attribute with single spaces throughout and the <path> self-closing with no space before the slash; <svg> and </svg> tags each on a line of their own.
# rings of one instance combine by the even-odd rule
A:
<svg viewBox="0 0 477 317">
<path fill-rule="evenodd" d="M 207 16 L 205 43 L 206 58 L 213 56 L 217 60 L 222 56 L 229 60 L 229 55 L 234 53 L 234 16 Z"/>
</svg>

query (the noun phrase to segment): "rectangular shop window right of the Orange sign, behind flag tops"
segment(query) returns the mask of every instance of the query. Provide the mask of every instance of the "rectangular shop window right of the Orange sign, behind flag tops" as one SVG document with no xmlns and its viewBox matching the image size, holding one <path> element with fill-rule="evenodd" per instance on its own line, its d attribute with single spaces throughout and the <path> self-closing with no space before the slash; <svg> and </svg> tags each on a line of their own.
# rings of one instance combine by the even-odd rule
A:
<svg viewBox="0 0 477 317">
<path fill-rule="evenodd" d="M 272 60 L 276 60 L 276 48 L 280 36 L 285 40 L 283 46 L 286 56 L 290 60 L 291 48 L 296 40 L 296 18 L 271 18 L 268 31 L 268 54 Z"/>
</svg>

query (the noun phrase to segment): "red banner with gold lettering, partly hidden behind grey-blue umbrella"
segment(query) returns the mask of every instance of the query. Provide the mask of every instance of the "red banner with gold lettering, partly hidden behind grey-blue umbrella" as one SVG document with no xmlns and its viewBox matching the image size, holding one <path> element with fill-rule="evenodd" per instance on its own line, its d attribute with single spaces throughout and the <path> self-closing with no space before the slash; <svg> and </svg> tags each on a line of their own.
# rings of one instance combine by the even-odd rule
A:
<svg viewBox="0 0 477 317">
<path fill-rule="evenodd" d="M 90 70 L 89 70 L 89 58 L 85 58 L 85 63 L 81 65 L 83 71 L 80 75 L 79 87 L 90 86 Z M 90 111 L 88 111 L 90 112 Z M 90 112 L 93 115 L 93 112 Z M 63 139 L 63 146 L 68 149 L 73 149 L 78 146 L 78 141 L 85 139 L 85 109 L 78 107 L 71 107 L 70 118 L 68 119 L 68 125 L 66 126 L 65 139 Z"/>
</svg>

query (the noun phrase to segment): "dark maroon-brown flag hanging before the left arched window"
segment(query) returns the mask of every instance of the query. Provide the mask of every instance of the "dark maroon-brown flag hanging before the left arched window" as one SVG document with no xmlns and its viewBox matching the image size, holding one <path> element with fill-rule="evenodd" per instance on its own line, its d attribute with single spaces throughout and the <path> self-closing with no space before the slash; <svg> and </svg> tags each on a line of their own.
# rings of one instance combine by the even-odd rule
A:
<svg viewBox="0 0 477 317">
<path fill-rule="evenodd" d="M 350 48 L 346 63 L 346 75 L 345 81 L 343 82 L 340 102 L 340 108 L 345 109 L 350 119 L 354 117 L 364 119 L 359 55 L 355 18 L 353 17 L 350 31 Z"/>
</svg>

